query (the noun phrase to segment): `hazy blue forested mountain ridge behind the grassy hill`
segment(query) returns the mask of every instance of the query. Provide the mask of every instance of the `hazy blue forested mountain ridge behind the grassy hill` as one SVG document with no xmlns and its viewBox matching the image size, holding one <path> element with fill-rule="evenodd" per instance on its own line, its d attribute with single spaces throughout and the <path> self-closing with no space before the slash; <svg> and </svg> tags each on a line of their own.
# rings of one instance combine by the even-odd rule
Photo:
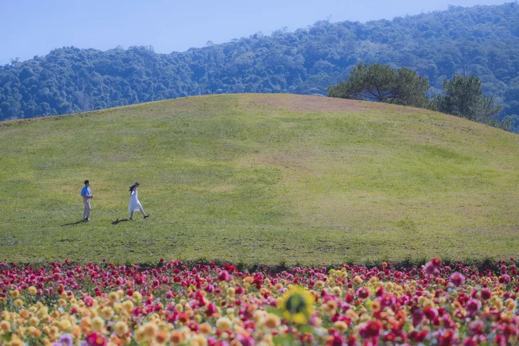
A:
<svg viewBox="0 0 519 346">
<path fill-rule="evenodd" d="M 450 6 L 447 11 L 309 28 L 154 53 L 59 48 L 0 66 L 0 119 L 41 117 L 196 94 L 326 94 L 360 61 L 410 67 L 432 93 L 454 74 L 477 75 L 483 92 L 519 130 L 519 4 Z"/>
</svg>

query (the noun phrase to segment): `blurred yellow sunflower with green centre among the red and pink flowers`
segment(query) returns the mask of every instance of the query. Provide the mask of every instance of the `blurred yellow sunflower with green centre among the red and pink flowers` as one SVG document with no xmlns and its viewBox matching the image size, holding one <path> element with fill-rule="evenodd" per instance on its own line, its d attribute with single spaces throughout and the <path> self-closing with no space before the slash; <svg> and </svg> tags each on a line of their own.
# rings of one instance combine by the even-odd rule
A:
<svg viewBox="0 0 519 346">
<path fill-rule="evenodd" d="M 304 324 L 314 313 L 315 297 L 300 286 L 291 286 L 287 293 L 278 299 L 277 307 L 282 310 L 284 320 Z"/>
</svg>

